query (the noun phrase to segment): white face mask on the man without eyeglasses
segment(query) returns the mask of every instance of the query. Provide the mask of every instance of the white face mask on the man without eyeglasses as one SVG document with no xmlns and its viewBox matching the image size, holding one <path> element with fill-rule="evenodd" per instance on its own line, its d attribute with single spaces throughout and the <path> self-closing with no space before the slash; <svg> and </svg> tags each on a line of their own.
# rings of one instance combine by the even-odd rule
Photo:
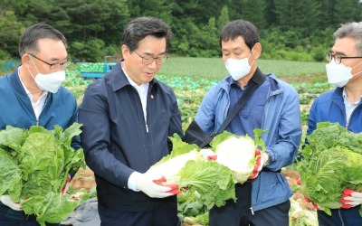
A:
<svg viewBox="0 0 362 226">
<path fill-rule="evenodd" d="M 236 60 L 233 58 L 229 58 L 225 61 L 226 70 L 229 71 L 230 75 L 233 77 L 233 80 L 240 80 L 249 74 L 252 69 L 252 65 L 249 65 L 249 57 L 252 52 L 249 54 L 247 58 L 243 58 L 240 60 Z M 254 61 L 252 61 L 253 63 Z"/>
</svg>

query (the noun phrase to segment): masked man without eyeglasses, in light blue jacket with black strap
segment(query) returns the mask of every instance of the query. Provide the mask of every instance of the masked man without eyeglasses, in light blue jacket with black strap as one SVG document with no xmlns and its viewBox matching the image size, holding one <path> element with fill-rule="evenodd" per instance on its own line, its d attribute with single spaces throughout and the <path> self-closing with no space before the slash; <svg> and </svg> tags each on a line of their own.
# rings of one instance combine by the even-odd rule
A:
<svg viewBox="0 0 362 226">
<path fill-rule="evenodd" d="M 207 134 L 215 133 L 243 93 L 257 88 L 226 130 L 253 137 L 262 128 L 266 152 L 246 183 L 236 184 L 237 201 L 209 212 L 210 226 L 289 225 L 292 193 L 281 168 L 291 165 L 300 145 L 300 101 L 291 85 L 274 74 L 264 75 L 257 66 L 262 53 L 257 28 L 243 20 L 230 22 L 220 34 L 223 61 L 230 75 L 205 95 L 195 122 Z M 243 148 L 243 147 L 240 147 Z"/>
</svg>

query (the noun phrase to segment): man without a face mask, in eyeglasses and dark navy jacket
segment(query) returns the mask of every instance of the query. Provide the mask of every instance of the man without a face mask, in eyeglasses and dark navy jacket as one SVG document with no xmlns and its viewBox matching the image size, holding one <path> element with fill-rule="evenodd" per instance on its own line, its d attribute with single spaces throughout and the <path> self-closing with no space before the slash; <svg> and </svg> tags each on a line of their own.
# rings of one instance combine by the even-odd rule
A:
<svg viewBox="0 0 362 226">
<path fill-rule="evenodd" d="M 79 110 L 82 147 L 95 173 L 103 226 L 176 226 L 178 189 L 147 173 L 183 136 L 174 91 L 155 79 L 167 60 L 171 31 L 155 17 L 126 25 L 123 60 L 86 90 Z"/>
</svg>

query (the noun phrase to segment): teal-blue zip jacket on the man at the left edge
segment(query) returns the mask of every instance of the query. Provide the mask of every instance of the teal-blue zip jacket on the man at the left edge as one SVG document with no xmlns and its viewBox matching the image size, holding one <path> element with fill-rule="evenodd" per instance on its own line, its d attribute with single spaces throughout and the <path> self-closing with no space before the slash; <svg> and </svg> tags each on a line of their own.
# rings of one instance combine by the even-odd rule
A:
<svg viewBox="0 0 362 226">
<path fill-rule="evenodd" d="M 71 92 L 63 87 L 56 93 L 48 92 L 39 118 L 35 117 L 32 102 L 27 96 L 19 78 L 18 69 L 0 78 L 0 129 L 7 125 L 28 129 L 42 126 L 53 129 L 58 125 L 63 129 L 77 121 L 77 101 Z M 80 147 L 80 137 L 75 137 L 73 148 Z"/>
</svg>

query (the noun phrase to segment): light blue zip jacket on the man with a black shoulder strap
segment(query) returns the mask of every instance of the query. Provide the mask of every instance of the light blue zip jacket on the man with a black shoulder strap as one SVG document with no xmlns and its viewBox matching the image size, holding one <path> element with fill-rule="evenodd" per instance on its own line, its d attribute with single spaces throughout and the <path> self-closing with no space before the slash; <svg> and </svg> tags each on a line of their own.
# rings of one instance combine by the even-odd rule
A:
<svg viewBox="0 0 362 226">
<path fill-rule="evenodd" d="M 252 180 L 252 212 L 286 202 L 291 197 L 291 188 L 280 170 L 294 162 L 301 138 L 298 93 L 275 75 L 268 74 L 267 77 L 271 81 L 271 89 L 262 112 L 251 111 L 250 114 L 262 114 L 262 129 L 266 131 L 262 139 L 272 162 L 266 166 L 268 171 L 262 171 Z M 216 132 L 227 116 L 230 107 L 228 80 L 230 76 L 210 89 L 197 111 L 195 121 L 205 133 Z M 257 95 L 257 92 L 258 89 L 253 95 Z"/>
</svg>

